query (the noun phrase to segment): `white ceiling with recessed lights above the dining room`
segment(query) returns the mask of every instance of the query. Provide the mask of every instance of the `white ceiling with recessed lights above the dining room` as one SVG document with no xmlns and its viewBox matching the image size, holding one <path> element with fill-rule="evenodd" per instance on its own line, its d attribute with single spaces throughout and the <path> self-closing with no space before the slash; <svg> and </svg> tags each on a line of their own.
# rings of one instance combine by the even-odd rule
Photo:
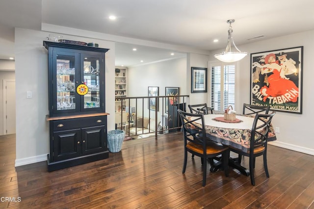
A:
<svg viewBox="0 0 314 209">
<path fill-rule="evenodd" d="M 313 9 L 313 0 L 1 0 L 0 59 L 14 56 L 14 27 L 40 30 L 41 23 L 48 23 L 213 50 L 226 46 L 229 19 L 235 19 L 233 35 L 239 46 L 261 40 L 248 41 L 258 36 L 269 39 L 312 30 Z M 109 15 L 117 19 L 110 21 Z M 214 39 L 219 42 L 213 43 Z M 143 56 L 154 51 L 159 54 L 157 59 L 170 58 L 170 50 L 143 46 L 142 57 L 127 61 L 131 55 L 125 50 L 130 46 L 117 44 L 117 64 L 125 60 L 126 65 L 136 65 L 141 59 L 153 62 L 154 55 Z"/>
</svg>

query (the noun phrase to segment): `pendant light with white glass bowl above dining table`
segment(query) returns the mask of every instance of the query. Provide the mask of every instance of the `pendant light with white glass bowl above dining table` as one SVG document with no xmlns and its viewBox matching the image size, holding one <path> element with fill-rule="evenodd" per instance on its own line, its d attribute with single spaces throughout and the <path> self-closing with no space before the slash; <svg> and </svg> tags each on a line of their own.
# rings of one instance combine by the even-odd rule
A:
<svg viewBox="0 0 314 209">
<path fill-rule="evenodd" d="M 241 59 L 243 59 L 245 56 L 247 56 L 247 52 L 243 52 L 240 51 L 236 46 L 235 46 L 235 42 L 234 39 L 232 37 L 232 26 L 231 23 L 234 23 L 235 20 L 228 20 L 227 23 L 229 23 L 229 30 L 228 30 L 228 43 L 227 43 L 227 47 L 226 50 L 221 52 L 220 54 L 215 54 L 214 57 L 217 58 L 218 60 L 222 61 L 222 62 L 236 62 L 239 61 Z M 235 49 L 237 51 L 231 51 L 231 43 L 235 46 Z"/>
</svg>

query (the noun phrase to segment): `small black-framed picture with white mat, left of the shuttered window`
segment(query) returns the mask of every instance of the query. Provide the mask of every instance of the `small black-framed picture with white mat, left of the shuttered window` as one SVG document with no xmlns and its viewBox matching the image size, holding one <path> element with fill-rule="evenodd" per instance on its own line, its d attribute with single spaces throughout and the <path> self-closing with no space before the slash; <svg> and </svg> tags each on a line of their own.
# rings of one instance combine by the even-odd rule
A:
<svg viewBox="0 0 314 209">
<path fill-rule="evenodd" d="M 207 92 L 207 68 L 191 67 L 191 93 Z"/>
</svg>

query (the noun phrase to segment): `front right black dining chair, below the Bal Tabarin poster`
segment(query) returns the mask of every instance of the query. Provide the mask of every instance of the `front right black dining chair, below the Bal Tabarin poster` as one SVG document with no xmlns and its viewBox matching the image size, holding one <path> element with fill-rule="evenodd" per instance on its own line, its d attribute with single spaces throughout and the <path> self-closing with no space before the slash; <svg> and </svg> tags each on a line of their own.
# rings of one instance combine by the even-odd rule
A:
<svg viewBox="0 0 314 209">
<path fill-rule="evenodd" d="M 255 158 L 258 156 L 263 156 L 264 170 L 266 177 L 269 178 L 268 168 L 267 168 L 267 139 L 268 132 L 270 128 L 270 123 L 273 116 L 276 114 L 273 111 L 270 114 L 259 114 L 257 113 L 254 118 L 251 137 L 250 137 L 250 148 L 247 152 L 244 152 L 240 149 L 236 149 L 232 146 L 229 146 L 230 151 L 233 151 L 239 155 L 249 157 L 249 166 L 250 166 L 250 177 L 251 184 L 255 186 L 254 179 L 254 167 L 255 167 Z"/>
</svg>

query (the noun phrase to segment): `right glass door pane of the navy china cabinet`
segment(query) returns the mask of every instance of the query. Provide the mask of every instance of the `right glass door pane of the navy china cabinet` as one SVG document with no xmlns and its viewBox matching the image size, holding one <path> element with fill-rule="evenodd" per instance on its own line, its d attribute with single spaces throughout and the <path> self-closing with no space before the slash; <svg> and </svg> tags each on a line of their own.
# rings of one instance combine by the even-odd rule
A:
<svg viewBox="0 0 314 209">
<path fill-rule="evenodd" d="M 88 87 L 88 92 L 81 97 L 81 108 L 84 111 L 101 109 L 103 107 L 103 101 L 101 101 L 102 93 L 100 88 L 104 85 L 104 78 L 101 76 L 101 68 L 103 68 L 102 57 L 99 54 L 94 56 L 91 54 L 81 54 L 81 60 L 83 62 L 83 70 L 81 78 L 82 83 Z"/>
</svg>

